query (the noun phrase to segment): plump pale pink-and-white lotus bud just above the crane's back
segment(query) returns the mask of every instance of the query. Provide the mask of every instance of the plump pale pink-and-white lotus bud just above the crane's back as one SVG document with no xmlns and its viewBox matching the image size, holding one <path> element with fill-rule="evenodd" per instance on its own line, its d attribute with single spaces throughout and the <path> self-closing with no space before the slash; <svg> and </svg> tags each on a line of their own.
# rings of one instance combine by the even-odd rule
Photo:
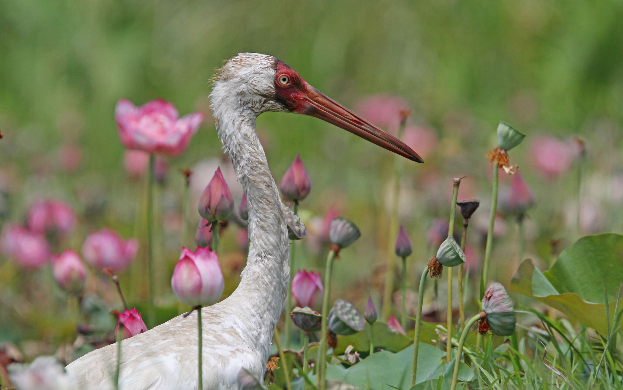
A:
<svg viewBox="0 0 623 390">
<path fill-rule="evenodd" d="M 178 299 L 188 306 L 209 306 L 219 301 L 225 281 L 216 253 L 208 248 L 191 252 L 182 248 L 173 270 L 171 287 Z"/>
</svg>

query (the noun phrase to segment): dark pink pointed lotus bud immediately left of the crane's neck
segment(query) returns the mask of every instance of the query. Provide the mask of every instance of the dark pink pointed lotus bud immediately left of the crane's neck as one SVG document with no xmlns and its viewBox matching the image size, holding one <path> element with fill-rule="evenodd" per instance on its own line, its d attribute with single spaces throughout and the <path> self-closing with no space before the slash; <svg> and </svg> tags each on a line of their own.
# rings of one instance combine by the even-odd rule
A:
<svg viewBox="0 0 623 390">
<path fill-rule="evenodd" d="M 212 180 L 199 198 L 199 214 L 208 222 L 224 221 L 234 210 L 234 198 L 223 178 L 221 167 L 216 168 Z"/>
</svg>

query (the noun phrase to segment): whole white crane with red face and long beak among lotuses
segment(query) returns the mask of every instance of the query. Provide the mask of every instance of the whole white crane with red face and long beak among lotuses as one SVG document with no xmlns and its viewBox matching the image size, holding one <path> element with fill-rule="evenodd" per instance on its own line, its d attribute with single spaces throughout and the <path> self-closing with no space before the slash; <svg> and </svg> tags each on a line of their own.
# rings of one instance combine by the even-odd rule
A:
<svg viewBox="0 0 623 390">
<path fill-rule="evenodd" d="M 202 309 L 203 388 L 235 389 L 242 369 L 261 379 L 275 324 L 286 298 L 288 233 L 277 185 L 255 133 L 265 111 L 313 115 L 411 160 L 411 148 L 321 94 L 275 57 L 240 53 L 214 77 L 210 94 L 216 129 L 234 163 L 249 205 L 249 257 L 234 293 Z M 196 314 L 177 316 L 123 340 L 120 388 L 197 387 Z M 67 366 L 82 388 L 112 390 L 117 346 L 92 351 Z"/>
</svg>

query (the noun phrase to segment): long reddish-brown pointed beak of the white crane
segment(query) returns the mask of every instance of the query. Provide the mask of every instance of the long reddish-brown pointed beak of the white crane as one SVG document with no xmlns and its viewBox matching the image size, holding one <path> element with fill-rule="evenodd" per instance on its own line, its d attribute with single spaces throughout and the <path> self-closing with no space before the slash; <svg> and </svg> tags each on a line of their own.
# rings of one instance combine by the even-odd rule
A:
<svg viewBox="0 0 623 390">
<path fill-rule="evenodd" d="M 301 112 L 302 114 L 311 115 L 341 127 L 409 160 L 424 162 L 422 157 L 404 142 L 379 129 L 312 86 L 308 87 L 308 92 L 302 99 L 308 103 L 306 109 Z"/>
</svg>

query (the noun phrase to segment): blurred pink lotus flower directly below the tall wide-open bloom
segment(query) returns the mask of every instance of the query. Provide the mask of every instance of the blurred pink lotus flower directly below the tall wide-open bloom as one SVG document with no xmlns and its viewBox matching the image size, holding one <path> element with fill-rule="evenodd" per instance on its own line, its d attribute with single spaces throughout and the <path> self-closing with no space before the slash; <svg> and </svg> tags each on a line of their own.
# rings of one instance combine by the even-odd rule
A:
<svg viewBox="0 0 623 390">
<path fill-rule="evenodd" d="M 136 256 L 138 241 L 123 240 L 117 232 L 103 228 L 90 233 L 82 245 L 82 257 L 94 268 L 124 270 Z"/>
</svg>

